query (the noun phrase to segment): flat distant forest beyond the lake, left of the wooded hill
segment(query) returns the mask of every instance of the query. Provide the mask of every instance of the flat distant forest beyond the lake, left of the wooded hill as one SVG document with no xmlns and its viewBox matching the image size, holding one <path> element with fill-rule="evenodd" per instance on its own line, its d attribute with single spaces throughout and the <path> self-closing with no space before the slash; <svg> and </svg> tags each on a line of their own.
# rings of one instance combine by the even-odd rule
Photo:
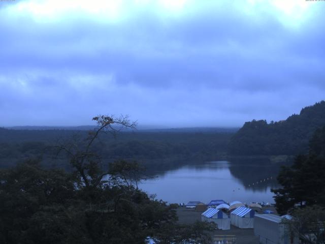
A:
<svg viewBox="0 0 325 244">
<path fill-rule="evenodd" d="M 43 166 L 69 169 L 65 155 L 57 155 L 59 143 L 83 143 L 86 130 L 0 129 L 0 164 L 15 165 L 29 158 L 41 158 Z M 88 128 L 89 129 L 89 128 Z M 193 160 L 225 158 L 235 129 L 171 129 L 121 131 L 100 135 L 93 148 L 108 164 L 116 159 L 137 160 L 148 169 L 172 167 Z"/>
</svg>

